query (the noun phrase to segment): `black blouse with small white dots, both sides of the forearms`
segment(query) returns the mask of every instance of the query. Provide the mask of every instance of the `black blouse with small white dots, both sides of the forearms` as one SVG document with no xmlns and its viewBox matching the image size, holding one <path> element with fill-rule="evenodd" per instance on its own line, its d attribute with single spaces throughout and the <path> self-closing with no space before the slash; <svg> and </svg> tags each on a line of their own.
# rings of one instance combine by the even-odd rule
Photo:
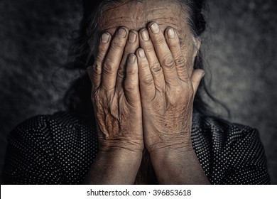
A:
<svg viewBox="0 0 277 199">
<path fill-rule="evenodd" d="M 9 134 L 6 184 L 80 184 L 97 156 L 97 131 L 68 112 L 28 119 Z M 192 146 L 212 184 L 268 184 L 256 129 L 194 114 Z"/>
</svg>

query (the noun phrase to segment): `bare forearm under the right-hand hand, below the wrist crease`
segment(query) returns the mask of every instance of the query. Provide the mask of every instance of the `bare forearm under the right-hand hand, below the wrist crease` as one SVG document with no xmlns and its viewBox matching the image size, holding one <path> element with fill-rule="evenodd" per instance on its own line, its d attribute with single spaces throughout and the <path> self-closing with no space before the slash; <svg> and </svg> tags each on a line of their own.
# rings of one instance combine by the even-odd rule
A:
<svg viewBox="0 0 277 199">
<path fill-rule="evenodd" d="M 150 155 L 158 182 L 161 184 L 209 183 L 192 147 L 160 149 Z"/>
</svg>

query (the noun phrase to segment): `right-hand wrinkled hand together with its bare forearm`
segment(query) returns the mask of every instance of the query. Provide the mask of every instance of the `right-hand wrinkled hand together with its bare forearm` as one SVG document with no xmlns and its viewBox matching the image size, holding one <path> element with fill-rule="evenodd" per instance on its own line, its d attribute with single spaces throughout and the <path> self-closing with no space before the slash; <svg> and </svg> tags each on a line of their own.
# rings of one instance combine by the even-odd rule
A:
<svg viewBox="0 0 277 199">
<path fill-rule="evenodd" d="M 190 139 L 192 104 L 204 71 L 194 70 L 190 77 L 173 28 L 167 28 L 164 36 L 158 24 L 151 23 L 139 37 L 143 137 L 158 181 L 207 183 Z M 195 181 L 190 181 L 192 171 Z"/>
</svg>

